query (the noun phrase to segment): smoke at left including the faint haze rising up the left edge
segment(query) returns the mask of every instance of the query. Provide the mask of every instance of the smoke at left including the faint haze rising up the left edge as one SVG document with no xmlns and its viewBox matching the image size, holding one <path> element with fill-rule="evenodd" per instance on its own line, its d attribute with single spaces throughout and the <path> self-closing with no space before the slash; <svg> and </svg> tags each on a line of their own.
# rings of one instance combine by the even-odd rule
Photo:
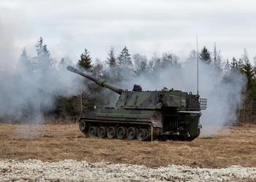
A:
<svg viewBox="0 0 256 182">
<path fill-rule="evenodd" d="M 28 122 L 39 123 L 53 108 L 54 97 L 75 95 L 79 81 L 65 68 L 29 70 L 14 56 L 13 30 L 15 27 L 0 20 L 0 119 L 24 122 L 25 116 Z"/>
</svg>

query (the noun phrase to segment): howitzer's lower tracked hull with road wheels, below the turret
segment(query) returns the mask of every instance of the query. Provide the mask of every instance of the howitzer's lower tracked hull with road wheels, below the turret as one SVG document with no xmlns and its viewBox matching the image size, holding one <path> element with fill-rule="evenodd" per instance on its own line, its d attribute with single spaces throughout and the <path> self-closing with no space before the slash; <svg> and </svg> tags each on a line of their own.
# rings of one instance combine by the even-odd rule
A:
<svg viewBox="0 0 256 182">
<path fill-rule="evenodd" d="M 200 135 L 200 115 L 174 108 L 104 108 L 84 112 L 79 127 L 90 137 L 192 141 Z"/>
</svg>

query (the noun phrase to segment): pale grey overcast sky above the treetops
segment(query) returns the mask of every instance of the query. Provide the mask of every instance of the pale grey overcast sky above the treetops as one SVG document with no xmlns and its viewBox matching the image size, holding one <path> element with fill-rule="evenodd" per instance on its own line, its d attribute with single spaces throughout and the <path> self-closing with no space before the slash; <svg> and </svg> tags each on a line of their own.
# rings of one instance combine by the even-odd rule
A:
<svg viewBox="0 0 256 182">
<path fill-rule="evenodd" d="M 0 47 L 15 50 L 14 58 L 22 47 L 34 55 L 42 36 L 56 59 L 77 60 L 87 48 L 105 60 L 110 46 L 118 53 L 124 45 L 132 54 L 173 52 L 182 59 L 198 35 L 199 47 L 213 51 L 216 41 L 224 59 L 240 57 L 244 47 L 253 58 L 255 17 L 255 0 L 1 0 L 0 41 L 9 48 Z"/>
</svg>

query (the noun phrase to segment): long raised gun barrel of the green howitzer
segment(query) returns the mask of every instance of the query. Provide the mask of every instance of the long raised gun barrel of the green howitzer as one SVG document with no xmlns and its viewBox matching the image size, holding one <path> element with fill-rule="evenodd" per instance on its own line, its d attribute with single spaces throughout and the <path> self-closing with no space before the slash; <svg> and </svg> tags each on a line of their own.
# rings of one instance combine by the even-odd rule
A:
<svg viewBox="0 0 256 182">
<path fill-rule="evenodd" d="M 124 92 L 124 90 L 114 87 L 112 84 L 109 84 L 108 82 L 105 82 L 105 80 L 96 79 L 96 78 L 94 78 L 94 76 L 90 76 L 88 74 L 85 74 L 82 71 L 79 71 L 78 69 L 73 68 L 72 66 L 67 66 L 67 70 L 71 71 L 75 74 L 80 74 L 80 76 L 83 76 L 83 77 L 86 77 L 87 79 L 90 79 L 91 81 L 95 82 L 96 84 L 98 84 L 101 87 L 106 87 L 110 90 L 113 90 L 114 92 L 118 93 L 119 95 L 121 95 L 121 92 Z"/>
</svg>

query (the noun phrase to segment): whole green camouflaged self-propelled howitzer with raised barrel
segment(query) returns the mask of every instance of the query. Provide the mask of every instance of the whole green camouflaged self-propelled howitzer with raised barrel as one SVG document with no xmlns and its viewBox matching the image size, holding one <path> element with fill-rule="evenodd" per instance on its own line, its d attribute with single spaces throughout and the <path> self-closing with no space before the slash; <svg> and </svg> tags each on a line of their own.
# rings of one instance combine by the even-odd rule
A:
<svg viewBox="0 0 256 182">
<path fill-rule="evenodd" d="M 136 84 L 132 91 L 122 90 L 71 66 L 67 69 L 119 94 L 115 107 L 81 114 L 79 128 L 85 135 L 139 141 L 192 141 L 200 135 L 200 111 L 207 100 L 199 95 L 167 88 L 142 91 Z"/>
</svg>

